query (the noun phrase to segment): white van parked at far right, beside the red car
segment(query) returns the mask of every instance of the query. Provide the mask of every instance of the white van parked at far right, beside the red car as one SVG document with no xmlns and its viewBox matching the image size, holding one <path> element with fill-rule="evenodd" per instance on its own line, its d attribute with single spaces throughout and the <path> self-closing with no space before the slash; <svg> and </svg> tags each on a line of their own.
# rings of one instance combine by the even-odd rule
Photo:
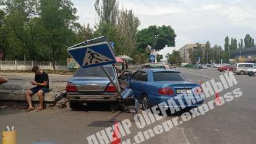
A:
<svg viewBox="0 0 256 144">
<path fill-rule="evenodd" d="M 252 69 L 255 66 L 255 63 L 237 63 L 234 64 L 233 72 L 236 74 L 244 75 L 247 72 L 247 69 Z"/>
</svg>

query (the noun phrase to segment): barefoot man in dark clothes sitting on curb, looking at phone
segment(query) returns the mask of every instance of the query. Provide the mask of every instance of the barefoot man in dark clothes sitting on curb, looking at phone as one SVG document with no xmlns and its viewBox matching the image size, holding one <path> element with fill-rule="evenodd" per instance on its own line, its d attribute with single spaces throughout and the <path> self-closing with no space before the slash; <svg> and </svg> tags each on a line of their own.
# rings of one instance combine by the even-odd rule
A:
<svg viewBox="0 0 256 144">
<path fill-rule="evenodd" d="M 32 85 L 36 85 L 36 87 L 31 88 L 30 90 L 25 91 L 26 100 L 28 102 L 28 109 L 26 112 L 33 111 L 35 108 L 32 105 L 31 96 L 37 93 L 39 99 L 39 106 L 35 109 L 35 111 L 43 110 L 43 95 L 44 93 L 49 92 L 49 77 L 46 72 L 39 69 L 38 66 L 34 66 L 32 69 L 35 72 L 35 80 L 30 82 Z"/>
</svg>

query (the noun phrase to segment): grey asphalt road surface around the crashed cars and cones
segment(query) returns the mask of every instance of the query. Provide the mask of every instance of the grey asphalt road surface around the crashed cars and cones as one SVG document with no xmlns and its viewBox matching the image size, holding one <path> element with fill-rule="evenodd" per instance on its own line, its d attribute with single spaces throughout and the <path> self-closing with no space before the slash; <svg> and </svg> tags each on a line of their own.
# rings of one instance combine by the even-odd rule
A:
<svg viewBox="0 0 256 144">
<path fill-rule="evenodd" d="M 224 74 L 217 70 L 179 69 L 192 82 L 206 82 Z M 256 138 L 256 77 L 235 75 L 237 85 L 220 93 L 223 96 L 229 91 L 241 88 L 243 95 L 222 106 L 212 109 L 203 116 L 179 124 L 169 132 L 150 138 L 143 143 L 186 143 L 186 144 L 222 144 L 222 143 L 255 143 Z M 208 98 L 208 100 L 212 100 Z M 161 122 L 180 114 L 165 117 L 161 121 L 148 125 L 143 130 L 151 129 Z M 70 111 L 70 109 L 46 109 L 41 112 L 25 113 L 20 109 L 0 109 L 0 128 L 15 125 L 19 144 L 33 142 L 56 142 L 59 144 L 87 143 L 86 138 L 113 124 L 112 119 L 132 121 L 132 133 L 122 138 L 133 138 L 138 129 L 131 114 L 109 111 L 106 106 L 97 105 L 94 108 Z"/>
</svg>

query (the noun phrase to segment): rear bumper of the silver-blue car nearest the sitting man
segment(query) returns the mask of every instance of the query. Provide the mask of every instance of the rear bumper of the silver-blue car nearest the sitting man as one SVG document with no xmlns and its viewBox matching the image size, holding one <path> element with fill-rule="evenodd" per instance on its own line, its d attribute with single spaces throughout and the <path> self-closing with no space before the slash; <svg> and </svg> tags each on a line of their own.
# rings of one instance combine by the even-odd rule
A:
<svg viewBox="0 0 256 144">
<path fill-rule="evenodd" d="M 84 103 L 100 103 L 100 102 L 115 102 L 118 95 L 67 95 L 69 101 L 80 101 Z"/>
</svg>

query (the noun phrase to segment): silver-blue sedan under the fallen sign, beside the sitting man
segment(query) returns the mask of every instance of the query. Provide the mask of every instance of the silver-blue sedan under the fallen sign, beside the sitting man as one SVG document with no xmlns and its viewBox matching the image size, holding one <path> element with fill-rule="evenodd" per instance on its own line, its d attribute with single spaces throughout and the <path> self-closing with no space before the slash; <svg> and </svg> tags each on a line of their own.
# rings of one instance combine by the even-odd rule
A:
<svg viewBox="0 0 256 144">
<path fill-rule="evenodd" d="M 113 66 L 104 67 L 120 90 L 116 69 Z M 69 79 L 66 90 L 70 108 L 75 108 L 77 104 L 82 103 L 113 103 L 118 98 L 116 88 L 106 77 L 101 67 L 78 69 L 74 76 Z"/>
</svg>

